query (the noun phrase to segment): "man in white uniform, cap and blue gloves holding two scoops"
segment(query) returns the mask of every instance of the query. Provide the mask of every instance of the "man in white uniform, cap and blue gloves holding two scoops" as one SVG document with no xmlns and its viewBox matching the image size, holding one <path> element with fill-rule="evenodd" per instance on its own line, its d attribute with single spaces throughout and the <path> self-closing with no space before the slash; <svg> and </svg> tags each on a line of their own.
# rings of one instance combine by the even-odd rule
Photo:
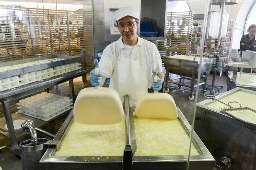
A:
<svg viewBox="0 0 256 170">
<path fill-rule="evenodd" d="M 138 12 L 133 7 L 121 7 L 116 11 L 116 25 L 121 37 L 105 48 L 99 64 L 95 61 L 100 73 L 96 76 L 95 70 L 90 72 L 92 85 L 103 85 L 109 77 L 109 87 L 117 91 L 121 99 L 128 95 L 131 105 L 136 105 L 151 85 L 154 91 L 159 91 L 164 81 L 159 51 L 154 43 L 137 36 L 140 25 L 137 18 Z M 157 82 L 154 82 L 155 76 Z"/>
</svg>

